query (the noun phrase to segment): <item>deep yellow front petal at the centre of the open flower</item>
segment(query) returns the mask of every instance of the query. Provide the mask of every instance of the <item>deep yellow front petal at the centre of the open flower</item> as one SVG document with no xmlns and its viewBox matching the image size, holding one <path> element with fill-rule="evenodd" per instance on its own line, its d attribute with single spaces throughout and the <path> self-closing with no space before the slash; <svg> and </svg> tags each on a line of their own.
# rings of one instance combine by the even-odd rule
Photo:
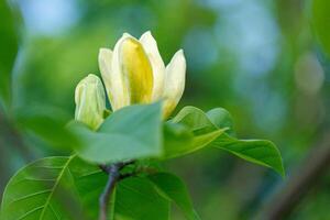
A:
<svg viewBox="0 0 330 220">
<path fill-rule="evenodd" d="M 124 85 L 129 87 L 131 103 L 148 103 L 152 100 L 153 73 L 141 43 L 127 37 L 120 46 L 120 61 Z"/>
</svg>

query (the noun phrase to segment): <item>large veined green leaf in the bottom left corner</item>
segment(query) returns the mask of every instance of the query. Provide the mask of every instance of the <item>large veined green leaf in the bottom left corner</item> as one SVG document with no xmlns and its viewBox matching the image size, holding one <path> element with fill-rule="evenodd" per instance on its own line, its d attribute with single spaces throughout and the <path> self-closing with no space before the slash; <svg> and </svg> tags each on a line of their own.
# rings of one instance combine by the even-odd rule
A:
<svg viewBox="0 0 330 220">
<path fill-rule="evenodd" d="M 25 166 L 6 187 L 1 219 L 85 219 L 69 165 L 72 157 L 48 157 Z"/>
</svg>

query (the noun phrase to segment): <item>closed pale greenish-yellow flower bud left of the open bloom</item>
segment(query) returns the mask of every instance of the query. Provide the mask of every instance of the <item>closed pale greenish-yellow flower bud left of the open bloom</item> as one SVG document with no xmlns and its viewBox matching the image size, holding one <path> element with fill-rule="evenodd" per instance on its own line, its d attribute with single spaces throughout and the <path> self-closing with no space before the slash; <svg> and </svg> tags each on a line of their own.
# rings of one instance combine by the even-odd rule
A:
<svg viewBox="0 0 330 220">
<path fill-rule="evenodd" d="M 106 110 L 106 94 L 102 81 L 96 75 L 89 74 L 76 87 L 75 119 L 94 130 L 103 122 Z"/>
</svg>

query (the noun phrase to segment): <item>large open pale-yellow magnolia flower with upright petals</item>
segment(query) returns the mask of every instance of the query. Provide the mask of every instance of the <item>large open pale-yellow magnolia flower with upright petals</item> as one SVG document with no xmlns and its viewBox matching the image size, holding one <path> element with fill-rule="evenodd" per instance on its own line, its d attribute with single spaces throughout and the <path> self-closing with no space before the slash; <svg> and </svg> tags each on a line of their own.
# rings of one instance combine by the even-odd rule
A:
<svg viewBox="0 0 330 220">
<path fill-rule="evenodd" d="M 184 92 L 186 59 L 183 50 L 176 52 L 165 67 L 151 32 L 145 32 L 140 40 L 123 34 L 113 51 L 101 48 L 99 67 L 113 111 L 129 105 L 164 100 L 166 118 Z"/>
</svg>

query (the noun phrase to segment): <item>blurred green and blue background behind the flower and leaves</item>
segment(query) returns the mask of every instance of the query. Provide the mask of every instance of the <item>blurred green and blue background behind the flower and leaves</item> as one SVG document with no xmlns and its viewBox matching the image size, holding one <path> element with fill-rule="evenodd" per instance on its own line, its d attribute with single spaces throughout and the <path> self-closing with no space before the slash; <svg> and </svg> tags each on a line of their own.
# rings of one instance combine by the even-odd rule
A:
<svg viewBox="0 0 330 220">
<path fill-rule="evenodd" d="M 166 163 L 201 218 L 330 219 L 327 0 L 1 1 L 0 195 L 24 164 L 68 154 L 61 128 L 77 82 L 99 74 L 99 48 L 151 30 L 166 64 L 185 51 L 177 109 L 223 107 L 239 138 L 272 140 L 283 154 L 285 179 L 213 148 Z"/>
</svg>

